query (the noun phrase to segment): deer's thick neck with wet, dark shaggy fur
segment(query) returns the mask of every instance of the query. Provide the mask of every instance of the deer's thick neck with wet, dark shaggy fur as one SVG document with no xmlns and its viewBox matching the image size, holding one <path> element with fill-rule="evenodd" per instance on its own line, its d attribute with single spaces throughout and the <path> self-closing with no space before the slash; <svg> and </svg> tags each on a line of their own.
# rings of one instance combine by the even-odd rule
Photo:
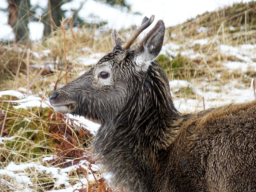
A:
<svg viewBox="0 0 256 192">
<path fill-rule="evenodd" d="M 162 69 L 152 68 L 138 82 L 141 85 L 138 85 L 137 94 L 133 94 L 134 97 L 113 119 L 101 125 L 94 148 L 116 183 L 125 186 L 125 180 L 129 180 L 133 189 L 148 191 L 147 187 L 153 185 L 161 154 L 179 131 L 172 126 L 179 115 L 173 106 L 169 83 Z M 143 178 L 148 179 L 138 182 Z M 145 186 L 137 186 L 138 183 Z"/>
</svg>

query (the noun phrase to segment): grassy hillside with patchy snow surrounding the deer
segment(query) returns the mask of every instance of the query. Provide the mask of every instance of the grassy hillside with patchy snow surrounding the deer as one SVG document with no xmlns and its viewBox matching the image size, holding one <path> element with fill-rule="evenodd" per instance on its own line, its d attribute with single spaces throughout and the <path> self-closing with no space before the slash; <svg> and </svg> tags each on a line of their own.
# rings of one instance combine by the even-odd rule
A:
<svg viewBox="0 0 256 192">
<path fill-rule="evenodd" d="M 119 30 L 125 38 L 133 31 Z M 100 125 L 57 114 L 48 101 L 66 76 L 75 79 L 111 51 L 111 30 L 92 25 L 65 34 L 58 30 L 30 47 L 0 45 L 0 191 L 121 191 L 108 187 L 110 175 L 92 158 Z M 255 99 L 255 39 L 255 1 L 167 28 L 157 60 L 175 107 L 187 113 Z"/>
</svg>

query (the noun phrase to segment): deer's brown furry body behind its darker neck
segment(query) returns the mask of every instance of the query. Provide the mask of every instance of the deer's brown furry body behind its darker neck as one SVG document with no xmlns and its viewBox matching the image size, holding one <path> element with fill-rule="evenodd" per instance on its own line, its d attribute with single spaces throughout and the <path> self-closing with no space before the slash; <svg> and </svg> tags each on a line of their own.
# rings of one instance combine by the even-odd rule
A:
<svg viewBox="0 0 256 192">
<path fill-rule="evenodd" d="M 180 131 L 157 171 L 156 191 L 255 191 L 255 104 L 180 116 Z"/>
</svg>

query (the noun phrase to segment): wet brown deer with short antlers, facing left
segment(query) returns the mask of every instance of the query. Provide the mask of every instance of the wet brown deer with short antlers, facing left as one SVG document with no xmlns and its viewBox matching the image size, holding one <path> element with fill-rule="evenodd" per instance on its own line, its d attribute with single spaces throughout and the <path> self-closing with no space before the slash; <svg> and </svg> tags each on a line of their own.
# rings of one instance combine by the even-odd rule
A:
<svg viewBox="0 0 256 192">
<path fill-rule="evenodd" d="M 126 192 L 256 191 L 256 101 L 182 114 L 156 61 L 165 25 L 154 15 L 126 41 L 49 97 L 54 110 L 101 126 L 92 142 L 102 171 Z"/>
</svg>

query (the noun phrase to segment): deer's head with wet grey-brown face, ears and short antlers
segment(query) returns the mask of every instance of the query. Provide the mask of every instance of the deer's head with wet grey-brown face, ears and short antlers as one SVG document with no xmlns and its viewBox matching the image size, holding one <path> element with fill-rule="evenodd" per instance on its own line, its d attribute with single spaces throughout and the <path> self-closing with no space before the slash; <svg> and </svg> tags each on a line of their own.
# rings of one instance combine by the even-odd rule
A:
<svg viewBox="0 0 256 192">
<path fill-rule="evenodd" d="M 53 108 L 61 113 L 85 116 L 100 122 L 112 119 L 134 97 L 135 92 L 141 91 L 148 68 L 158 65 L 154 60 L 163 45 L 165 26 L 162 20 L 157 21 L 139 46 L 130 48 L 153 20 L 153 15 L 144 19 L 126 43 L 114 30 L 113 51 L 82 76 L 53 92 L 49 98 Z"/>
</svg>

